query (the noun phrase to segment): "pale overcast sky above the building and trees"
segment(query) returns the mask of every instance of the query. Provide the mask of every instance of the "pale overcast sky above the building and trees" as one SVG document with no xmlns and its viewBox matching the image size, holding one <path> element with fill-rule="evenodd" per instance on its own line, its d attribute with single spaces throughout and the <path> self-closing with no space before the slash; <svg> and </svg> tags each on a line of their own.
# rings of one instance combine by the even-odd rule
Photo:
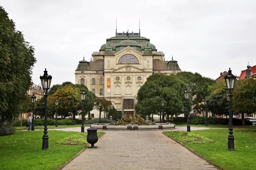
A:
<svg viewBox="0 0 256 170">
<path fill-rule="evenodd" d="M 90 61 L 117 32 L 139 31 L 182 71 L 218 78 L 256 65 L 256 0 L 1 0 L 35 48 L 32 81 L 47 68 L 52 85 L 75 83 L 79 61 Z"/>
</svg>

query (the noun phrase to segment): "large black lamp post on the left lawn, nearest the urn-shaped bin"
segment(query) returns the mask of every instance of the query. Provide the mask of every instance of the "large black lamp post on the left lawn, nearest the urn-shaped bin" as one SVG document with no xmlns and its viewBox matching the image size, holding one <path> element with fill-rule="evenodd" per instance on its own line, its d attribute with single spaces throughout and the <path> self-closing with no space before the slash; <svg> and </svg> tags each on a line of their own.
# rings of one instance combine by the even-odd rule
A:
<svg viewBox="0 0 256 170">
<path fill-rule="evenodd" d="M 47 97 L 48 97 L 48 90 L 50 89 L 51 86 L 51 82 L 52 82 L 52 76 L 47 74 L 47 71 L 45 69 L 44 71 L 44 75 L 40 76 L 41 79 L 41 83 L 43 86 L 43 90 L 44 90 L 44 97 L 45 97 L 45 101 L 44 101 L 44 136 L 42 137 L 43 139 L 43 145 L 42 145 L 42 149 L 48 149 L 49 148 L 49 144 L 48 144 L 48 135 L 47 135 Z"/>
</svg>

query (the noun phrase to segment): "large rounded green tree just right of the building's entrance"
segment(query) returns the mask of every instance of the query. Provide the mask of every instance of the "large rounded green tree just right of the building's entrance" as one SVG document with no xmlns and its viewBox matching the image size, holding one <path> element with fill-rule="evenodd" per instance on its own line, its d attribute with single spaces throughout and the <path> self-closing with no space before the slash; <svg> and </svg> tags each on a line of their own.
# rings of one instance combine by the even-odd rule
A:
<svg viewBox="0 0 256 170">
<path fill-rule="evenodd" d="M 183 113 L 185 98 L 183 89 L 185 83 L 175 75 L 154 74 L 140 88 L 137 95 L 136 112 L 142 116 L 160 114 L 164 101 L 165 112 L 168 115 Z"/>
</svg>

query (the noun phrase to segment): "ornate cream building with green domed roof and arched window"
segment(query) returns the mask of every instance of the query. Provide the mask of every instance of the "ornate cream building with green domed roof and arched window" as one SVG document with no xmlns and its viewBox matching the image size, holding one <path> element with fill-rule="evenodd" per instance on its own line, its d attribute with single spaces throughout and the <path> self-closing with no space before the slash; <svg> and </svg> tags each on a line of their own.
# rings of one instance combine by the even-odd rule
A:
<svg viewBox="0 0 256 170">
<path fill-rule="evenodd" d="M 116 33 L 108 38 L 90 62 L 79 61 L 76 84 L 84 84 L 96 96 L 113 102 L 122 115 L 134 116 L 137 92 L 152 74 L 177 74 L 177 61 L 165 61 L 162 51 L 140 33 Z M 98 111 L 92 111 L 94 117 Z"/>
</svg>

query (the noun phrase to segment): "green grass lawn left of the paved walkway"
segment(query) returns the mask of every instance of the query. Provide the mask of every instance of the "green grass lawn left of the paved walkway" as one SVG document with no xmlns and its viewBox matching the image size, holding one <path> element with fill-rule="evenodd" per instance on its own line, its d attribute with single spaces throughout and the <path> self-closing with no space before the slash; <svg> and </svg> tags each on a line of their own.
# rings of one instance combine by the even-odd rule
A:
<svg viewBox="0 0 256 170">
<path fill-rule="evenodd" d="M 99 132 L 98 132 L 99 133 Z M 1 170 L 56 170 L 87 144 L 55 144 L 77 132 L 49 130 L 49 149 L 42 150 L 42 130 L 18 131 L 10 136 L 0 136 Z M 87 132 L 84 133 L 87 135 Z"/>
</svg>

